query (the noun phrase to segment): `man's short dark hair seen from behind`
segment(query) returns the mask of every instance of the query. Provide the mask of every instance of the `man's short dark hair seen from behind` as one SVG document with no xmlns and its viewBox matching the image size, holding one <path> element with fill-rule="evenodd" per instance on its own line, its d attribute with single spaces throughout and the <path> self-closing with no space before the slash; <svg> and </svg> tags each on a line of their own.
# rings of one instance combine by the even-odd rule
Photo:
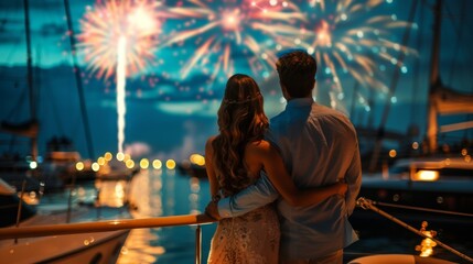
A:
<svg viewBox="0 0 473 264">
<path fill-rule="evenodd" d="M 307 97 L 312 92 L 316 73 L 315 58 L 302 50 L 283 53 L 276 63 L 279 81 L 292 98 Z"/>
</svg>

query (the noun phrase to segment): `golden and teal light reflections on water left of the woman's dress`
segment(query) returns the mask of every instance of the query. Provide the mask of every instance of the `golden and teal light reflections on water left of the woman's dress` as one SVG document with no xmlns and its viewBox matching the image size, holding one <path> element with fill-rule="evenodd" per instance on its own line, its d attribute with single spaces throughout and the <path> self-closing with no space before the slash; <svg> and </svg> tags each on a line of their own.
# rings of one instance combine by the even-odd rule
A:
<svg viewBox="0 0 473 264">
<path fill-rule="evenodd" d="M 136 219 L 200 213 L 209 199 L 208 182 L 169 168 L 143 169 L 135 176 L 129 191 Z M 202 260 L 213 230 L 204 232 Z M 130 232 L 117 263 L 190 263 L 194 246 L 195 227 L 137 229 Z"/>
</svg>

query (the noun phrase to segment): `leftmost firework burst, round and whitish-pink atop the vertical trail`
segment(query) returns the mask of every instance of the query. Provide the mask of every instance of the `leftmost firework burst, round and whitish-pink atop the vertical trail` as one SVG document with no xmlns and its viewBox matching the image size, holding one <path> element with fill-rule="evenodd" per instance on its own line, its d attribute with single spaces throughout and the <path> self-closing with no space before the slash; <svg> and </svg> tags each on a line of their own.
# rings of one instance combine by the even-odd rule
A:
<svg viewBox="0 0 473 264">
<path fill-rule="evenodd" d="M 108 78 L 116 74 L 122 38 L 127 42 L 122 47 L 127 76 L 152 63 L 161 23 L 166 18 L 159 7 L 159 2 L 151 0 L 98 1 L 94 8 L 87 7 L 77 40 L 88 67 L 97 73 L 97 77 Z"/>
</svg>

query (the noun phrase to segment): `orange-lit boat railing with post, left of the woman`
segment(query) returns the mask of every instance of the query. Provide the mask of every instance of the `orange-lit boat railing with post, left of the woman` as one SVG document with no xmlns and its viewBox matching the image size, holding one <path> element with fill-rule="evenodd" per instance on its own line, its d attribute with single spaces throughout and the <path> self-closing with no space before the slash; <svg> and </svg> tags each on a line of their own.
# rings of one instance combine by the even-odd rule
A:
<svg viewBox="0 0 473 264">
<path fill-rule="evenodd" d="M 60 234 L 107 232 L 143 228 L 164 228 L 179 226 L 197 226 L 195 230 L 195 263 L 201 264 L 202 224 L 216 222 L 206 215 L 182 215 L 172 217 L 119 219 L 98 222 L 47 224 L 0 229 L 0 240 L 36 238 Z"/>
</svg>

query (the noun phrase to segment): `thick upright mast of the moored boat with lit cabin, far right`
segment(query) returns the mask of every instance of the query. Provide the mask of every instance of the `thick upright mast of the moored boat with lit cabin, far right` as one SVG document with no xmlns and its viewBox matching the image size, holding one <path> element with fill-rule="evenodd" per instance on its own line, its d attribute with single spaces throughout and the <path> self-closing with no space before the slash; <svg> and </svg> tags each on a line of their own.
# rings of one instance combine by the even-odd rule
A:
<svg viewBox="0 0 473 264">
<path fill-rule="evenodd" d="M 442 0 L 437 0 L 433 8 L 433 41 L 432 54 L 430 64 L 430 78 L 429 78 L 429 101 L 428 101 L 428 124 L 427 124 L 427 143 L 429 154 L 437 152 L 437 106 L 434 91 L 441 88 L 442 81 L 439 75 L 439 57 L 440 57 L 440 20 L 441 20 Z"/>
</svg>

